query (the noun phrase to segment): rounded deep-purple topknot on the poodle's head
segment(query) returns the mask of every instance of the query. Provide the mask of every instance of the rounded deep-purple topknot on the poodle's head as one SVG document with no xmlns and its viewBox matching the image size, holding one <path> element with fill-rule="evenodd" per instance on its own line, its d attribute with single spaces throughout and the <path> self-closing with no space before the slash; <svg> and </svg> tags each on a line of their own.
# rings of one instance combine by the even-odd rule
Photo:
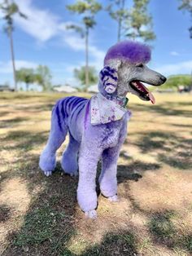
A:
<svg viewBox="0 0 192 256">
<path fill-rule="evenodd" d="M 147 63 L 151 60 L 151 49 L 141 42 L 125 40 L 111 46 L 104 59 L 104 65 L 108 60 L 127 60 L 130 64 Z"/>
</svg>

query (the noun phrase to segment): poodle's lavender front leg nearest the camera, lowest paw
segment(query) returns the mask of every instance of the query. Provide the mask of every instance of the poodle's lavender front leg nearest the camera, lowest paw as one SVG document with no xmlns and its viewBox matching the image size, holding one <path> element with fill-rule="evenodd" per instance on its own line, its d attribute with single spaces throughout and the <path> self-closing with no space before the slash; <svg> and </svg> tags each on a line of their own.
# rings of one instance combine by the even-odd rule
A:
<svg viewBox="0 0 192 256">
<path fill-rule="evenodd" d="M 79 183 L 77 188 L 77 200 L 81 210 L 88 218 L 97 218 L 96 207 L 98 197 L 96 193 L 96 172 L 98 160 L 102 150 L 94 148 L 93 144 L 86 147 L 81 145 L 79 156 Z"/>
</svg>

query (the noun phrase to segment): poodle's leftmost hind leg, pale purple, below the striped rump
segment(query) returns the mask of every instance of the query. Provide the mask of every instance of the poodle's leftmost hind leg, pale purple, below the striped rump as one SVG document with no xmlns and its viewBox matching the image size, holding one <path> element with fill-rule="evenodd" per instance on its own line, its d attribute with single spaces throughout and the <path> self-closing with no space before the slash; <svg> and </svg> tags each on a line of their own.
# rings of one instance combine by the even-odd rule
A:
<svg viewBox="0 0 192 256">
<path fill-rule="evenodd" d="M 57 109 L 57 106 L 56 106 Z M 39 167 L 44 171 L 46 176 L 50 176 L 56 166 L 56 151 L 63 143 L 67 133 L 68 127 L 64 123 L 58 123 L 58 113 L 54 109 L 51 117 L 51 129 L 49 139 L 46 147 L 41 152 Z"/>
</svg>

